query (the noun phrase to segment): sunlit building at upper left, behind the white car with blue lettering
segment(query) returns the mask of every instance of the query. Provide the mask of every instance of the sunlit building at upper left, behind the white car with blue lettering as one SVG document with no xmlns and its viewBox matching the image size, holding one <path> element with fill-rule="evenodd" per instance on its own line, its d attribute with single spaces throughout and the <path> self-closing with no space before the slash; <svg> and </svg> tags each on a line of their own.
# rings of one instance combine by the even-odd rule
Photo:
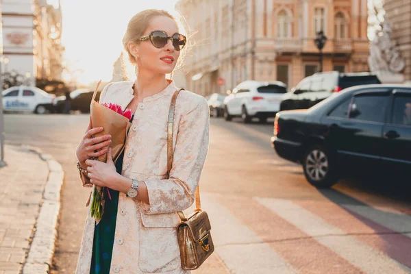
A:
<svg viewBox="0 0 411 274">
<path fill-rule="evenodd" d="M 62 12 L 47 0 L 2 0 L 5 72 L 36 79 L 62 80 Z"/>
</svg>

